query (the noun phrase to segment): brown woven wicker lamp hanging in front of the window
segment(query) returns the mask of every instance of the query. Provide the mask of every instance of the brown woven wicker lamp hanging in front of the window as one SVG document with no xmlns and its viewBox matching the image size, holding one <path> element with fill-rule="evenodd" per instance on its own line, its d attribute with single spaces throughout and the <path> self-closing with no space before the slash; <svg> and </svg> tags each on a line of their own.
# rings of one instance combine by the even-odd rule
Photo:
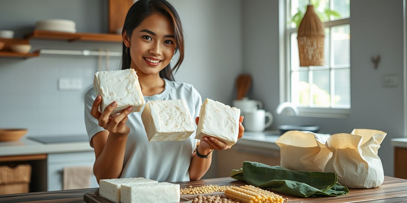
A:
<svg viewBox="0 0 407 203">
<path fill-rule="evenodd" d="M 307 6 L 300 26 L 298 26 L 298 54 L 300 66 L 324 65 L 324 26 L 314 11 Z"/>
</svg>

